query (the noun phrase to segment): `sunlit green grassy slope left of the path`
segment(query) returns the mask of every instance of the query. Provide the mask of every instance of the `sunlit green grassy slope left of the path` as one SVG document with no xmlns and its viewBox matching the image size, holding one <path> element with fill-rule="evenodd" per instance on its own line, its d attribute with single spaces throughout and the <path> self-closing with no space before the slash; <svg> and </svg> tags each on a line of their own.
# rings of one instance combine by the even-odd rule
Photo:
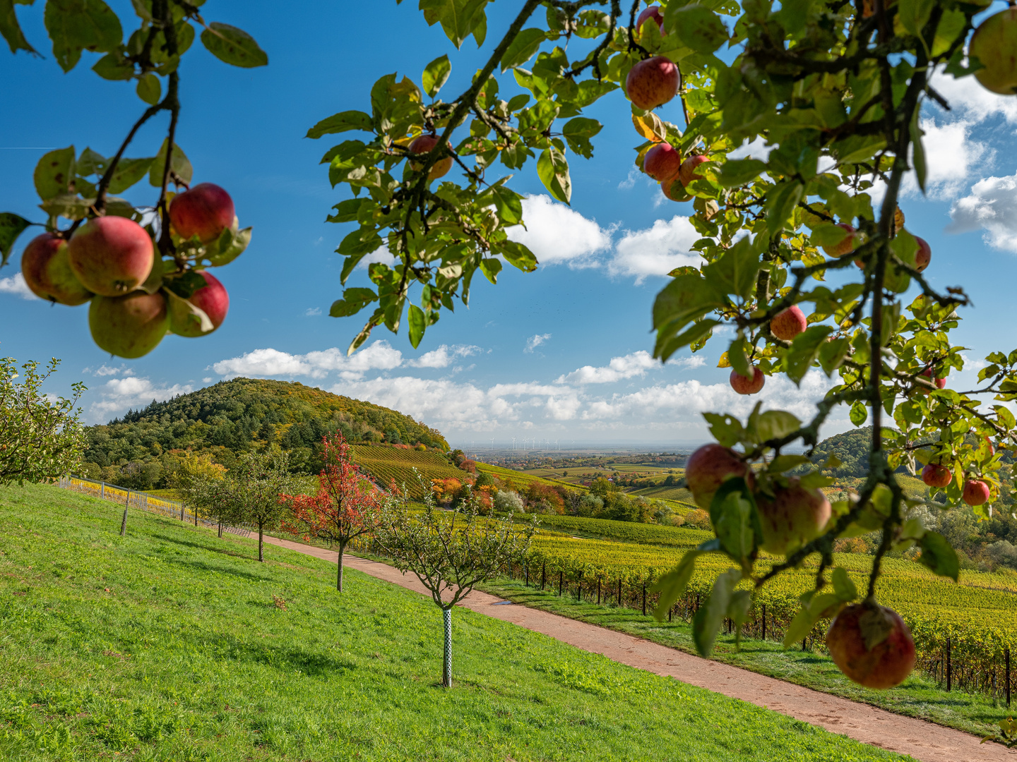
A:
<svg viewBox="0 0 1017 762">
<path fill-rule="evenodd" d="M 0 759 L 901 757 L 357 572 L 54 487 L 0 489 Z M 285 598 L 288 611 L 274 604 Z"/>
</svg>

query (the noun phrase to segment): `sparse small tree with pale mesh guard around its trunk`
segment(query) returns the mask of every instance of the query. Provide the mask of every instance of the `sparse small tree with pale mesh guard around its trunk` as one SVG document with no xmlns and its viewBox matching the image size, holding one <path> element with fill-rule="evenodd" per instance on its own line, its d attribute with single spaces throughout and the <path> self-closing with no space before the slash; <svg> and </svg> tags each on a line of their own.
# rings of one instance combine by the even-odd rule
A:
<svg viewBox="0 0 1017 762">
<path fill-rule="evenodd" d="M 476 496 L 468 493 L 459 508 L 440 511 L 430 491 L 424 491 L 424 511 L 410 513 L 399 492 L 382 506 L 377 543 L 397 569 L 413 572 L 430 591 L 444 619 L 444 661 L 441 685 L 452 688 L 452 608 L 474 586 L 496 574 L 505 564 L 523 558 L 536 531 L 525 528 L 512 514 L 482 518 Z"/>
</svg>

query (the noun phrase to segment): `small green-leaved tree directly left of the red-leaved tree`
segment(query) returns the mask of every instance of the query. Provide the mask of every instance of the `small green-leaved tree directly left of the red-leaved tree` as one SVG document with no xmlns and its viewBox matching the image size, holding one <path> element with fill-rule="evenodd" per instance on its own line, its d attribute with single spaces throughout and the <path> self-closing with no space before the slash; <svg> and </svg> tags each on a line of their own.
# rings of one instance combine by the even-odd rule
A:
<svg viewBox="0 0 1017 762">
<path fill-rule="evenodd" d="M 257 560 L 264 561 L 264 530 L 279 525 L 289 512 L 285 496 L 294 492 L 286 453 L 248 453 L 230 469 L 222 486 L 222 498 L 231 515 L 257 526 Z"/>
</svg>

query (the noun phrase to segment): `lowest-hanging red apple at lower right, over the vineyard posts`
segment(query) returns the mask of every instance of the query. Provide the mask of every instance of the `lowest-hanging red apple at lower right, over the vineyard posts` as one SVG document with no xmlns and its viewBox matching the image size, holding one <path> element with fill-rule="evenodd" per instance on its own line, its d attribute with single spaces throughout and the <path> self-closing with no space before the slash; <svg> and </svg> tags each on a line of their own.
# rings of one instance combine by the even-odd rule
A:
<svg viewBox="0 0 1017 762">
<path fill-rule="evenodd" d="M 914 640 L 893 609 L 851 604 L 834 617 L 827 648 L 837 669 L 865 688 L 893 688 L 914 669 Z"/>
</svg>

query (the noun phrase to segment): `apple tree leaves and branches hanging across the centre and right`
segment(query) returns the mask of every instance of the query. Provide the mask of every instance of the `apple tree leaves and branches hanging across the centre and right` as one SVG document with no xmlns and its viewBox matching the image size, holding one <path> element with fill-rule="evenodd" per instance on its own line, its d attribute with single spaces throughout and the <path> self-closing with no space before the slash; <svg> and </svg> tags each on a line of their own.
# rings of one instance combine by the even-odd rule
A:
<svg viewBox="0 0 1017 762">
<path fill-rule="evenodd" d="M 427 23 L 457 47 L 471 37 L 480 47 L 495 31 L 486 6 L 486 0 L 420 0 Z M 377 326 L 397 331 L 404 316 L 416 346 L 442 309 L 468 302 L 478 271 L 493 283 L 503 262 L 534 270 L 534 254 L 506 234 L 525 223 L 512 173 L 535 168 L 547 192 L 569 203 L 570 162 L 591 158 L 601 130 L 584 114 L 602 99 L 618 118 L 632 119 L 637 166 L 664 141 L 683 157 L 706 156 L 701 177 L 668 189 L 671 197 L 692 199 L 691 221 L 702 236 L 693 248 L 702 265 L 672 271 L 657 296 L 656 357 L 699 351 L 723 326 L 722 335 L 733 338 L 721 365 L 741 376 L 751 377 L 755 367 L 795 384 L 812 369 L 829 377 L 811 421 L 759 405 L 745 421 L 723 411 L 706 416 L 719 443 L 756 463 L 757 490 L 786 487 L 787 473 L 809 463 L 783 450 L 814 447 L 837 405 L 849 406 L 855 425 L 872 422 L 872 449 L 858 494 L 833 505 L 820 536 L 772 561 L 761 559 L 754 490 L 729 480 L 710 507 L 715 538 L 661 580 L 658 613 L 682 593 L 699 555 L 728 557 L 731 570 L 696 618 L 697 643 L 709 652 L 725 618 L 743 621 L 754 589 L 818 554 L 816 589 L 802 597 L 788 633 L 793 642 L 859 597 L 853 585 L 836 583 L 847 579 L 833 568 L 839 537 L 882 532 L 866 599 L 891 550 L 917 547 L 921 563 L 957 578 L 958 560 L 944 537 L 907 519 L 914 501 L 895 475 L 900 466 L 912 472 L 930 462 L 948 466 L 953 479 L 933 492 L 951 505 L 968 481 L 983 481 L 991 500 L 975 511 L 988 516 L 1001 484 L 997 450 L 1017 445 L 1017 422 L 1006 404 L 1017 398 L 1017 351 L 993 353 L 977 389 L 935 383 L 964 367 L 964 347 L 951 343 L 950 331 L 968 298 L 960 288 L 932 288 L 915 260 L 916 232 L 897 206 L 908 173 L 924 189 L 922 107 L 948 107 L 932 73 L 970 77 L 970 86 L 979 86 L 971 75 L 982 63 L 966 59 L 964 50 L 972 17 L 986 5 L 669 0 L 660 6 L 659 25 L 649 18 L 638 26 L 640 0 L 526 0 L 507 28 L 497 30 L 500 40 L 464 91 L 439 97 L 452 66 L 440 56 L 419 81 L 386 74 L 365 94 L 363 110 L 313 126 L 311 138 L 354 135 L 321 160 L 333 185 L 350 191 L 328 219 L 356 224 L 338 249 L 345 256 L 343 283 L 382 246 L 397 258 L 394 266 L 372 263 L 373 288 L 347 288 L 332 315 L 367 316 L 351 353 Z M 625 104 L 627 73 L 653 56 L 678 66 L 681 124 Z M 411 152 L 422 134 L 436 135 L 437 143 L 426 154 Z M 732 156 L 746 141 L 765 142 L 766 157 Z M 453 173 L 432 179 L 431 169 L 448 157 Z M 875 202 L 879 193 L 871 190 L 883 191 L 882 200 Z M 824 249 L 847 256 L 828 257 Z M 807 327 L 782 340 L 770 320 L 792 305 L 803 309 Z M 815 469 L 801 477 L 806 488 L 830 482 Z"/>
</svg>

